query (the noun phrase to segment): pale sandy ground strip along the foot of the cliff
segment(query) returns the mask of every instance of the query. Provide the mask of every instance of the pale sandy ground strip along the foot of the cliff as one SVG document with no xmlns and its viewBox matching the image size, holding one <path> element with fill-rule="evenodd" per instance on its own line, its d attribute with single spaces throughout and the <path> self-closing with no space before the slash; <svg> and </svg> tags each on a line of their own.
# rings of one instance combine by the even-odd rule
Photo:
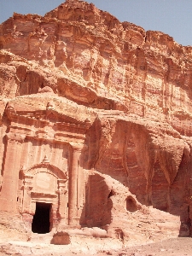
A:
<svg viewBox="0 0 192 256">
<path fill-rule="evenodd" d="M 99 253 L 75 253 L 75 252 L 65 252 L 65 246 L 55 246 L 55 245 L 36 245 L 32 247 L 30 243 L 22 244 L 8 242 L 6 244 L 0 243 L 0 255 L 12 255 L 12 256 L 26 256 L 26 255 L 36 255 L 36 256 L 192 256 L 192 238 L 181 237 L 175 239 L 168 239 L 166 241 L 155 242 L 147 245 L 141 245 L 137 247 L 127 247 L 119 251 L 106 250 Z"/>
</svg>

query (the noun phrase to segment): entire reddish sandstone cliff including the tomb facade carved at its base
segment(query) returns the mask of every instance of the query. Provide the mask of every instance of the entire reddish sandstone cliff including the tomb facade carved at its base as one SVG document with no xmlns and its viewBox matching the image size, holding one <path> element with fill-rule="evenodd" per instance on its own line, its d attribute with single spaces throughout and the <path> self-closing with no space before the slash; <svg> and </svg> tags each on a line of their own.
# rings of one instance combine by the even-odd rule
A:
<svg viewBox="0 0 192 256">
<path fill-rule="evenodd" d="M 92 3 L 4 21 L 0 236 L 113 248 L 190 236 L 191 70 L 191 47 Z"/>
</svg>

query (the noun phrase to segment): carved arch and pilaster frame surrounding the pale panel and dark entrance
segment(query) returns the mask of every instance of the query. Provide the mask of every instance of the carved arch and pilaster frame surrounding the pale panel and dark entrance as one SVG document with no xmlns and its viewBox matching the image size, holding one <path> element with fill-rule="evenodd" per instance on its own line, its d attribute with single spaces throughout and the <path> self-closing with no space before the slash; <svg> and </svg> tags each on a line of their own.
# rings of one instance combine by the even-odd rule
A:
<svg viewBox="0 0 192 256">
<path fill-rule="evenodd" d="M 33 178 L 38 173 L 39 168 L 44 168 L 46 173 L 49 173 L 57 179 L 57 189 L 54 194 L 33 191 Z M 40 171 L 39 171 L 40 172 Z M 36 202 L 44 202 L 51 204 L 50 212 L 50 230 L 55 228 L 61 219 L 67 222 L 67 173 L 64 173 L 56 166 L 49 163 L 49 160 L 44 157 L 40 164 L 33 165 L 26 170 L 21 168 L 20 174 L 23 179 L 23 198 L 21 214 L 27 226 L 32 227 L 32 218 L 36 211 Z"/>
</svg>

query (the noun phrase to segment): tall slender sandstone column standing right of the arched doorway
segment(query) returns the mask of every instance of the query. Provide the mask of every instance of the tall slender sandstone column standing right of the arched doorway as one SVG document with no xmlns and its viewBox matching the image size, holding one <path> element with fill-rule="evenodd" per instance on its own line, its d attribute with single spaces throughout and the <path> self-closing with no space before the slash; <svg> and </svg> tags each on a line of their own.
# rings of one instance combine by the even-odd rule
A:
<svg viewBox="0 0 192 256">
<path fill-rule="evenodd" d="M 78 217 L 78 170 L 81 148 L 73 147 L 68 191 L 68 224 L 79 224 Z"/>
</svg>

